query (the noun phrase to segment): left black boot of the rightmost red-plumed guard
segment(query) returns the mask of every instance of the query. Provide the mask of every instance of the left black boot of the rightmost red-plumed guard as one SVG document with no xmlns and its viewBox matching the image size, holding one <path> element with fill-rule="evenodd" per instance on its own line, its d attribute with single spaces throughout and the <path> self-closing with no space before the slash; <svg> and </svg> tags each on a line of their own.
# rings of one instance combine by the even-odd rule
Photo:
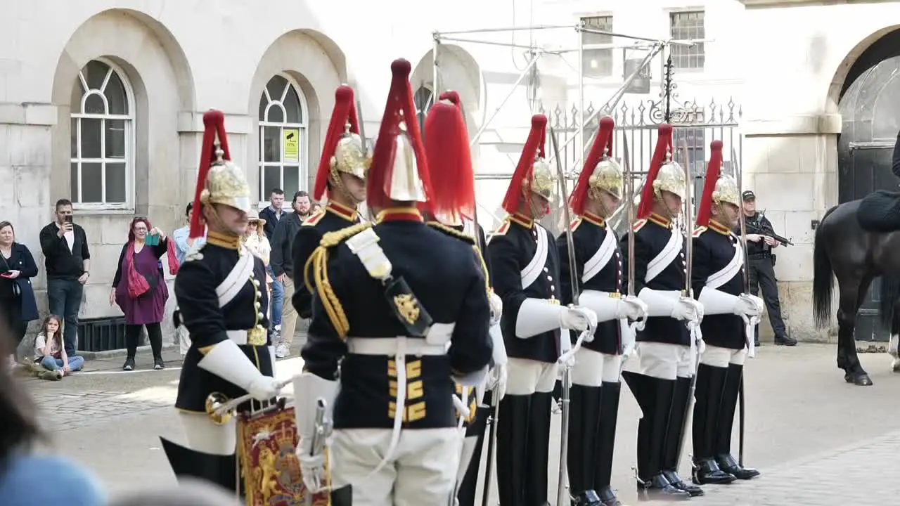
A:
<svg viewBox="0 0 900 506">
<path fill-rule="evenodd" d="M 700 364 L 697 369 L 697 390 L 694 392 L 694 465 L 691 477 L 694 483 L 724 484 L 734 482 L 734 474 L 719 469 L 716 464 L 716 437 L 718 433 L 719 407 L 725 388 L 725 367 Z"/>
</svg>

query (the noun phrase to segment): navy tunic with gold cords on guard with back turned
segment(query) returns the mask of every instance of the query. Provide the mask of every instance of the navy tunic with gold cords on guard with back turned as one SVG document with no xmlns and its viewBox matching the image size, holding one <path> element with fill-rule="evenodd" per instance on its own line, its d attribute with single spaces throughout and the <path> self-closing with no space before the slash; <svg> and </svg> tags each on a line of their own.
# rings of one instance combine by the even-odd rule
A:
<svg viewBox="0 0 900 506">
<path fill-rule="evenodd" d="M 491 361 L 488 333 L 491 308 L 481 267 L 473 260 L 473 245 L 429 227 L 418 212 L 383 212 L 374 224 L 378 245 L 391 260 L 392 276 L 402 276 L 419 303 L 435 323 L 454 323 L 450 348 L 442 356 L 408 356 L 409 389 L 405 429 L 455 427 L 453 375 L 481 370 Z M 405 215 L 405 216 L 403 216 Z M 357 225 L 359 231 L 368 224 Z M 349 230 L 345 230 L 349 231 Z M 348 336 L 355 339 L 410 336 L 388 303 L 382 283 L 365 270 L 363 263 L 341 243 L 329 248 L 329 283 L 349 323 Z M 421 338 L 410 338 L 421 339 Z M 337 429 L 391 429 L 391 404 L 396 380 L 389 362 L 393 357 L 350 354 L 325 312 L 320 294 L 313 297 L 312 322 L 302 349 L 306 370 L 328 380 L 340 379 L 335 402 Z M 338 362 L 339 372 L 338 372 Z M 338 376 L 339 374 L 339 376 Z"/>
</svg>

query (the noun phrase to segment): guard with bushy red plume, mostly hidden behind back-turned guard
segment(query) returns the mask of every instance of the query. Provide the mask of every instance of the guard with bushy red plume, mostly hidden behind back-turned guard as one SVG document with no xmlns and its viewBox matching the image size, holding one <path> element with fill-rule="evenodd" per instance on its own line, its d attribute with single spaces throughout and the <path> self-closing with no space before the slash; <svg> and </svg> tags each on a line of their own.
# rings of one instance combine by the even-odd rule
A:
<svg viewBox="0 0 900 506">
<path fill-rule="evenodd" d="M 456 230 L 466 236 L 478 239 L 478 249 L 474 252 L 476 263 L 483 266 L 488 273 L 490 285 L 491 264 L 482 256 L 486 250 L 484 230 L 473 221 L 475 215 L 475 186 L 472 167 L 472 154 L 469 149 L 469 134 L 465 128 L 462 109 L 459 106 L 459 94 L 447 91 L 440 95 L 439 102 L 429 111 L 425 120 L 425 152 L 428 156 L 428 169 L 431 174 L 432 188 L 441 202 L 443 195 L 458 198 L 456 202 L 447 202 L 442 208 L 435 209 L 434 221 L 438 230 L 446 228 Z M 449 230 L 447 230 L 449 232 Z M 458 234 L 451 234 L 457 235 Z M 469 240 L 469 239 L 466 239 Z M 503 303 L 492 290 L 488 293 L 491 301 L 491 338 L 494 355 L 491 359 L 491 377 L 485 383 L 474 387 L 460 384 L 456 393 L 469 411 L 468 417 L 462 417 L 465 427 L 463 451 L 460 457 L 459 470 L 456 474 L 459 506 L 474 506 L 475 492 L 478 484 L 478 472 L 482 462 L 482 443 L 487 420 L 491 414 L 491 400 L 485 404 L 485 390 L 489 384 L 497 401 L 503 398 L 506 389 L 506 348 L 500 332 L 500 315 Z"/>
</svg>

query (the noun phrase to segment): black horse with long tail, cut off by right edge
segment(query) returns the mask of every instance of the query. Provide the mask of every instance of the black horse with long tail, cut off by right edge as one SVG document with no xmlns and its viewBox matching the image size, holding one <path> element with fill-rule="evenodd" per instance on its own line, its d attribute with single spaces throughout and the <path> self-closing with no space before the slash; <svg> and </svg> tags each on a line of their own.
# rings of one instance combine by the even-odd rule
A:
<svg viewBox="0 0 900 506">
<path fill-rule="evenodd" d="M 815 230 L 813 311 L 815 324 L 827 327 L 833 278 L 838 280 L 838 368 L 847 383 L 872 384 L 856 354 L 856 313 L 872 280 L 881 276 L 881 320 L 900 333 L 900 194 L 876 192 L 834 206 Z M 895 357 L 896 358 L 896 357 Z M 895 359 L 894 367 L 897 370 Z"/>
</svg>

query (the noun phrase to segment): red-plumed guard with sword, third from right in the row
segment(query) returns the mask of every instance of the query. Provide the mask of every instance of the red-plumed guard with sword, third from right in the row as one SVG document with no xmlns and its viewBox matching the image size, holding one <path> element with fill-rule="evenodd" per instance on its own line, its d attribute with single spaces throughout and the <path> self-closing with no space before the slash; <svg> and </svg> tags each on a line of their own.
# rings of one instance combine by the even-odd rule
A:
<svg viewBox="0 0 900 506">
<path fill-rule="evenodd" d="M 622 167 L 609 158 L 615 126 L 610 117 L 600 120 L 599 133 L 570 201 L 578 216 L 571 225 L 574 273 L 578 276 L 574 285 L 581 290 L 581 305 L 596 312 L 599 321 L 594 340 L 575 353 L 572 367 L 567 468 L 576 506 L 621 505 L 610 481 L 622 353 L 634 346 L 627 320 L 646 318 L 644 302 L 622 294 L 622 253 L 616 232 L 606 223 L 622 198 Z M 562 300 L 572 303 L 568 234 L 556 238 L 556 247 Z"/>
</svg>

